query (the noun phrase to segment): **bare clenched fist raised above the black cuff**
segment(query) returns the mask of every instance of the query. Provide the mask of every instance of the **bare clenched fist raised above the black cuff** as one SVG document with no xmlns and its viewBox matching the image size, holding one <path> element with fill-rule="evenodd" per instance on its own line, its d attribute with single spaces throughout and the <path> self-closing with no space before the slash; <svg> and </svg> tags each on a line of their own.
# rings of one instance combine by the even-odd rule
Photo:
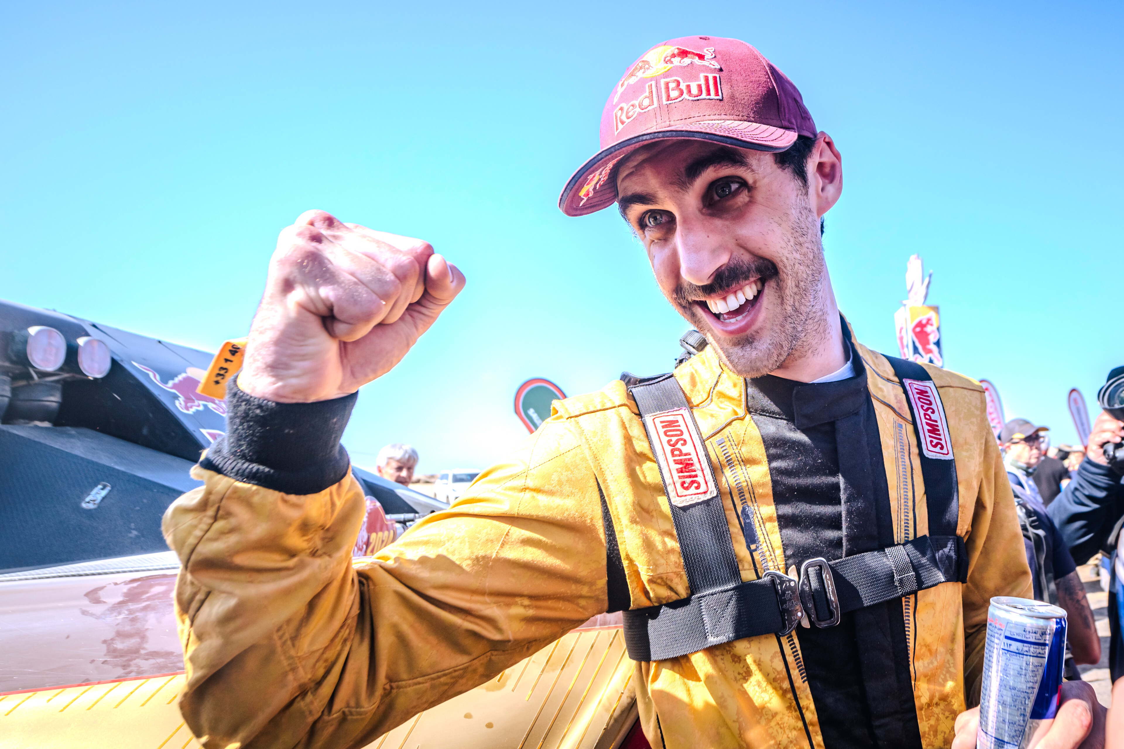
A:
<svg viewBox="0 0 1124 749">
<path fill-rule="evenodd" d="M 282 403 L 354 393 L 393 368 L 463 287 L 420 239 L 301 213 L 278 237 L 238 386 Z"/>
</svg>

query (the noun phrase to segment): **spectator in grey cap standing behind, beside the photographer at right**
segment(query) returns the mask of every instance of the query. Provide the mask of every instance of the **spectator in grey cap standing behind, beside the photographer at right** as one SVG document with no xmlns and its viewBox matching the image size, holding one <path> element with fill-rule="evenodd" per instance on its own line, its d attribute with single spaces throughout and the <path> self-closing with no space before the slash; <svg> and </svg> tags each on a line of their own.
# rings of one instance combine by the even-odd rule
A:
<svg viewBox="0 0 1124 749">
<path fill-rule="evenodd" d="M 1031 479 L 1042 462 L 1043 435 L 1049 427 L 1035 427 L 1026 419 L 1012 419 L 999 432 L 1003 462 L 1015 494 L 1015 509 L 1026 547 L 1026 561 L 1034 581 L 1034 597 L 1053 603 L 1068 614 L 1068 650 L 1066 678 L 1079 679 L 1077 664 L 1100 660 L 1100 637 L 1093 609 L 1085 595 L 1085 585 L 1069 547 L 1046 514 L 1037 486 Z"/>
</svg>

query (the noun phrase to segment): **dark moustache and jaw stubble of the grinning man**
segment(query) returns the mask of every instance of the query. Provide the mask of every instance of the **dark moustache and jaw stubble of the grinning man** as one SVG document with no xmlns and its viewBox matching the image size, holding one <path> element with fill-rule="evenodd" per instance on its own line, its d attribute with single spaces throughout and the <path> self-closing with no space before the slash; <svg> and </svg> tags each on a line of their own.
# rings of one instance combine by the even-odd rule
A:
<svg viewBox="0 0 1124 749">
<path fill-rule="evenodd" d="M 794 213 L 778 221 L 786 237 L 781 263 L 761 257 L 735 257 L 706 286 L 681 283 L 671 300 L 696 329 L 707 337 L 726 367 L 742 377 L 759 377 L 786 362 L 812 354 L 828 338 L 823 316 L 825 263 L 818 221 L 803 201 Z M 717 336 L 709 319 L 688 300 L 736 287 L 754 277 L 768 281 L 762 299 L 768 307 L 763 330 L 737 337 Z"/>
</svg>

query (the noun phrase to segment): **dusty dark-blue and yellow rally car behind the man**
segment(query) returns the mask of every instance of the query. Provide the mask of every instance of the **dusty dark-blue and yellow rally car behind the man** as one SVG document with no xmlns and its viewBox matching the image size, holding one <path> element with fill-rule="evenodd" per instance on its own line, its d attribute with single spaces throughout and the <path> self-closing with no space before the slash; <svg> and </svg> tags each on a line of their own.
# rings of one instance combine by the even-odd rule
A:
<svg viewBox="0 0 1124 749">
<path fill-rule="evenodd" d="M 210 360 L 0 301 L 0 746 L 199 746 L 160 520 L 225 430 Z M 447 506 L 354 472 L 402 524 Z M 633 673 L 619 614 L 598 616 L 370 747 L 646 747 Z"/>
</svg>

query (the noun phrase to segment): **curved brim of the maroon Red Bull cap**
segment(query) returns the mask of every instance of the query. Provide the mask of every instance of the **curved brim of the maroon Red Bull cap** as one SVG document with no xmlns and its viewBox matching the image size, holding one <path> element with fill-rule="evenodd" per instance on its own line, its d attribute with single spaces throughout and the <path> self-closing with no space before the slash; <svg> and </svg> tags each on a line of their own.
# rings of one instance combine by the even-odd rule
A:
<svg viewBox="0 0 1124 749">
<path fill-rule="evenodd" d="M 796 143 L 796 130 L 741 120 L 685 122 L 674 130 L 656 130 L 615 143 L 582 164 L 566 182 L 559 197 L 559 208 L 566 216 L 586 216 L 608 208 L 617 200 L 614 167 L 641 146 L 653 140 L 709 140 L 735 148 L 778 153 Z"/>
</svg>

